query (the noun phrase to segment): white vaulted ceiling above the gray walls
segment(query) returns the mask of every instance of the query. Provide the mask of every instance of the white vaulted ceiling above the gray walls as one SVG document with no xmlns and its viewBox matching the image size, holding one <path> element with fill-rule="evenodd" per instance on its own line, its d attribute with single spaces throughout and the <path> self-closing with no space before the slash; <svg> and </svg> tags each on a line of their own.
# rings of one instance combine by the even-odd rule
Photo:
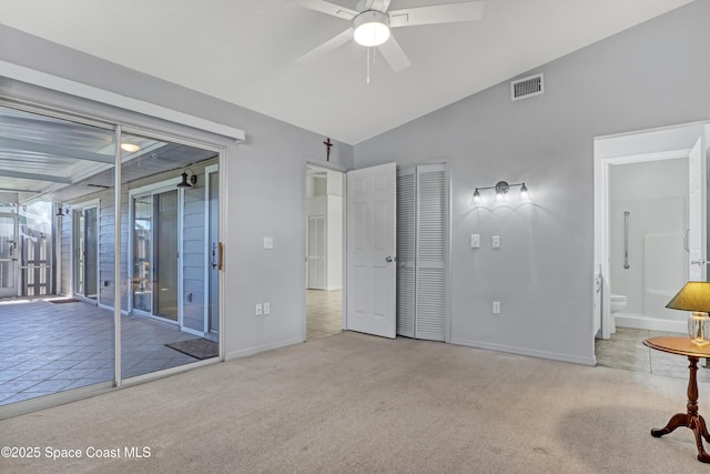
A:
<svg viewBox="0 0 710 474">
<path fill-rule="evenodd" d="M 369 84 L 354 42 L 296 62 L 349 26 L 297 0 L 0 0 L 0 21 L 356 144 L 690 1 L 487 0 L 477 22 L 393 30 L 412 65 L 378 58 Z"/>
</svg>

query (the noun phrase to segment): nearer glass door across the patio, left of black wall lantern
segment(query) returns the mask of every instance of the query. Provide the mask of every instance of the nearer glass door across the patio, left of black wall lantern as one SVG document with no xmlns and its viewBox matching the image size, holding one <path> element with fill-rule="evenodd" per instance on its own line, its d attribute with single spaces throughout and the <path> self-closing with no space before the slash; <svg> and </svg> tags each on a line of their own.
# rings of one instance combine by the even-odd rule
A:
<svg viewBox="0 0 710 474">
<path fill-rule="evenodd" d="M 133 309 L 178 321 L 178 191 L 133 199 Z"/>
</svg>

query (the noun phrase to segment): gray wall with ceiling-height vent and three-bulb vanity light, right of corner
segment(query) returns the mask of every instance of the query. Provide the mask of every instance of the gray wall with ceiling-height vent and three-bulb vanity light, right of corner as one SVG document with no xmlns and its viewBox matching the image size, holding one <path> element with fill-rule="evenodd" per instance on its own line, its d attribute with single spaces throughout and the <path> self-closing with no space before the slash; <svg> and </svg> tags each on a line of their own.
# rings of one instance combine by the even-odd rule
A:
<svg viewBox="0 0 710 474">
<path fill-rule="evenodd" d="M 453 342 L 594 363 L 592 139 L 710 118 L 708 18 L 696 1 L 530 71 L 544 95 L 505 82 L 356 145 L 356 168 L 450 159 Z M 532 204 L 470 206 L 499 180 Z"/>
</svg>

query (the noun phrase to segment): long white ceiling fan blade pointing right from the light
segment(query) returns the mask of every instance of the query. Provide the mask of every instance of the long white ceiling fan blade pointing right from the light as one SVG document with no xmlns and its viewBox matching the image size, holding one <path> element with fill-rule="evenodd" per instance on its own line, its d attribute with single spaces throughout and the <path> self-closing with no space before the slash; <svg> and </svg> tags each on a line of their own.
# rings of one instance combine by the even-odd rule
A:
<svg viewBox="0 0 710 474">
<path fill-rule="evenodd" d="M 389 28 L 476 21 L 483 17 L 485 6 L 485 1 L 467 1 L 395 10 L 389 12 Z"/>
</svg>

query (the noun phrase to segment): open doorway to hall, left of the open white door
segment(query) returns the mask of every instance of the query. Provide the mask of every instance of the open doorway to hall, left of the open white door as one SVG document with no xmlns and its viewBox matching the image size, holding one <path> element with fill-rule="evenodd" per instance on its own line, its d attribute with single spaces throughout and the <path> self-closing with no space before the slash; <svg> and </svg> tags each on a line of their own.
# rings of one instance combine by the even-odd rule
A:
<svg viewBox="0 0 710 474">
<path fill-rule="evenodd" d="M 308 164 L 305 178 L 306 339 L 343 331 L 343 181 Z"/>
</svg>

